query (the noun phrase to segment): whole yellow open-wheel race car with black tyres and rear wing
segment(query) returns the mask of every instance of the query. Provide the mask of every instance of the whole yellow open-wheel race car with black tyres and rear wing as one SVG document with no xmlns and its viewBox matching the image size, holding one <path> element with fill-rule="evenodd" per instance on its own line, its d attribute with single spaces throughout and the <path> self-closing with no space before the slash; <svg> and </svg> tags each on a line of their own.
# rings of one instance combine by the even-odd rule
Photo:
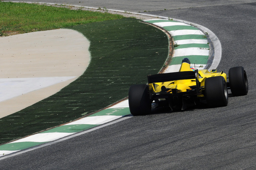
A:
<svg viewBox="0 0 256 170">
<path fill-rule="evenodd" d="M 223 72 L 194 70 L 190 64 L 184 58 L 179 72 L 148 75 L 148 85 L 131 85 L 128 95 L 131 114 L 145 115 L 152 108 L 163 106 L 172 110 L 184 110 L 199 103 L 209 107 L 227 106 L 228 89 L 234 96 L 248 93 L 243 67 L 230 68 L 227 78 Z"/>
</svg>

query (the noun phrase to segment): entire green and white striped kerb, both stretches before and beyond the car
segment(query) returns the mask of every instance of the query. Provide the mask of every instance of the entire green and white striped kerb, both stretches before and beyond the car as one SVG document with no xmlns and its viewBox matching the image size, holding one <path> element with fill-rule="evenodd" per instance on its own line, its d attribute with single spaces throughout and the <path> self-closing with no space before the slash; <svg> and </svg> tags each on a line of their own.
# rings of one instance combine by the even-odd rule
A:
<svg viewBox="0 0 256 170">
<path fill-rule="evenodd" d="M 179 71 L 184 57 L 190 59 L 192 66 L 195 64 L 195 67 L 198 69 L 205 68 L 209 56 L 209 45 L 207 38 L 201 30 L 189 24 L 172 20 L 155 19 L 145 20 L 145 22 L 169 31 L 173 36 L 175 44 L 177 44 L 177 47 L 174 48 L 171 63 L 165 71 L 166 73 Z M 92 115 L 0 145 L 0 157 L 43 143 L 52 142 L 127 115 L 130 115 L 129 105 L 128 100 L 124 100 Z"/>
</svg>

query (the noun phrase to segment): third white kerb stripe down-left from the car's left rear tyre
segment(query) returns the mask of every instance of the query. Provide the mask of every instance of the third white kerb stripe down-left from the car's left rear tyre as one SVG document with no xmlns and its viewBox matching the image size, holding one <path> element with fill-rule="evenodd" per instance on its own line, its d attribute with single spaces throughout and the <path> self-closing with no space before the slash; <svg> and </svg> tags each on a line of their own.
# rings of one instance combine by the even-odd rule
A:
<svg viewBox="0 0 256 170">
<path fill-rule="evenodd" d="M 39 133 L 34 134 L 10 143 L 17 143 L 17 142 L 50 142 L 55 141 L 57 139 L 66 137 L 68 135 L 72 135 L 74 133 L 60 133 L 60 132 L 53 132 L 53 133 Z"/>
</svg>

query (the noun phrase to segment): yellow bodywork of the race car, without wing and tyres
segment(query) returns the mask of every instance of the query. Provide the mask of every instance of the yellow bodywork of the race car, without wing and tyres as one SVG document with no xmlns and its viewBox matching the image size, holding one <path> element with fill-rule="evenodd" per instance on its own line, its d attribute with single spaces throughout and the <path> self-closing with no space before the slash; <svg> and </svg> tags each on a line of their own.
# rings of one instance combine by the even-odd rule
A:
<svg viewBox="0 0 256 170">
<path fill-rule="evenodd" d="M 193 71 L 194 72 L 194 70 L 191 69 L 190 64 L 188 64 L 188 63 L 182 63 L 179 72 L 183 72 L 183 71 Z M 223 72 L 217 73 L 216 70 L 212 70 L 211 72 L 209 72 L 208 70 L 198 70 L 198 74 L 199 74 L 198 80 L 200 82 L 200 87 L 204 86 L 205 79 L 209 78 L 209 77 L 222 76 L 222 77 L 224 77 L 225 81 L 227 80 L 227 75 L 225 73 L 223 73 Z M 167 91 L 170 93 L 172 93 L 172 89 L 178 89 L 178 92 L 185 92 L 185 91 L 191 90 L 192 86 L 196 86 L 195 79 L 175 80 L 175 81 L 170 81 L 170 82 L 150 83 L 149 84 L 149 88 L 152 89 L 152 92 L 160 92 L 160 91 L 162 91 L 162 89 L 170 88 Z M 203 96 L 203 95 L 201 94 L 201 96 Z M 198 97 L 200 97 L 200 95 L 198 95 Z"/>
</svg>

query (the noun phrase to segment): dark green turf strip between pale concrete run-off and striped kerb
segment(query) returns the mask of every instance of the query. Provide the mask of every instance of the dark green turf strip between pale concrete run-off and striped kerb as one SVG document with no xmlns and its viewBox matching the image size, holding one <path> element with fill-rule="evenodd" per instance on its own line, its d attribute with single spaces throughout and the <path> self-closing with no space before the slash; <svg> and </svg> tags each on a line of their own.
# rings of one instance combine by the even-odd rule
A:
<svg viewBox="0 0 256 170">
<path fill-rule="evenodd" d="M 0 143 L 75 120 L 126 97 L 130 85 L 147 83 L 147 75 L 157 74 L 168 57 L 166 34 L 137 19 L 70 28 L 90 41 L 87 70 L 58 93 L 1 118 Z"/>
</svg>

